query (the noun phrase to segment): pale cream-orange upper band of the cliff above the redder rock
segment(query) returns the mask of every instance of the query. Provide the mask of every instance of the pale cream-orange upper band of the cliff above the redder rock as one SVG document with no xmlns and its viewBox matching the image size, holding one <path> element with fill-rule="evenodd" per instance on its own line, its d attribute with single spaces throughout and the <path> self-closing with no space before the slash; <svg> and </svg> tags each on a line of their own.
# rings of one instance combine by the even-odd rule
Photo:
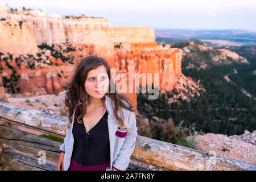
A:
<svg viewBox="0 0 256 182">
<path fill-rule="evenodd" d="M 113 49 L 113 45 L 120 42 L 155 42 L 152 28 L 113 27 L 105 18 L 63 18 L 39 10 L 0 10 L 0 16 L 5 19 L 0 22 L 0 49 L 5 53 L 11 50 L 12 53 L 31 54 L 38 51 L 37 45 L 65 42 L 80 46 L 93 43 L 98 53 L 106 53 L 106 49 Z"/>
</svg>

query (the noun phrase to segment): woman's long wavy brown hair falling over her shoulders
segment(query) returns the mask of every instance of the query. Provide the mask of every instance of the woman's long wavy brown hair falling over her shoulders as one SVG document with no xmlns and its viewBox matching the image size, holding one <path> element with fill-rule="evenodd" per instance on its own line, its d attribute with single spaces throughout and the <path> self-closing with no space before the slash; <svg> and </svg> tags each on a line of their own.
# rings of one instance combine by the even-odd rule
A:
<svg viewBox="0 0 256 182">
<path fill-rule="evenodd" d="M 79 122 L 79 119 L 82 118 L 86 114 L 86 103 L 90 103 L 89 99 L 89 94 L 86 93 L 85 88 L 84 88 L 84 83 L 86 80 L 86 77 L 88 75 L 88 72 L 92 69 L 96 69 L 98 66 L 104 65 L 106 68 L 106 71 L 108 73 L 109 77 L 109 88 L 108 92 L 106 93 L 107 96 L 109 96 L 112 100 L 112 107 L 113 107 L 113 102 L 114 102 L 114 110 L 113 113 L 115 115 L 115 118 L 117 119 L 117 122 L 121 124 L 121 126 L 126 127 L 125 122 L 123 121 L 124 118 L 120 118 L 118 116 L 118 109 L 120 107 L 123 107 L 127 110 L 130 111 L 135 111 L 135 107 L 131 104 L 130 99 L 122 93 L 116 92 L 114 90 L 114 93 L 110 93 L 110 88 L 115 88 L 115 83 L 114 81 L 111 81 L 112 77 L 110 76 L 110 67 L 108 62 L 103 59 L 102 57 L 99 56 L 87 56 L 84 59 L 80 61 L 79 64 L 77 64 L 76 71 L 72 77 L 72 81 L 69 82 L 67 85 L 68 91 L 65 95 L 65 106 L 68 108 L 68 125 L 67 127 L 69 128 L 71 123 L 72 123 L 72 115 L 73 111 L 76 107 L 77 104 L 79 104 L 79 101 L 81 102 L 81 114 L 77 117 L 77 122 Z M 110 87 L 111 85 L 113 87 Z M 115 88 L 116 89 L 116 88 Z M 105 96 L 102 98 L 102 100 L 105 100 Z M 124 104 L 121 100 L 125 101 L 126 104 Z M 88 101 L 88 102 L 87 102 Z M 105 103 L 104 103 L 105 105 Z M 121 110 L 122 111 L 122 110 Z M 123 113 L 122 113 L 123 114 Z M 127 129 L 127 132 L 128 129 Z"/>
</svg>

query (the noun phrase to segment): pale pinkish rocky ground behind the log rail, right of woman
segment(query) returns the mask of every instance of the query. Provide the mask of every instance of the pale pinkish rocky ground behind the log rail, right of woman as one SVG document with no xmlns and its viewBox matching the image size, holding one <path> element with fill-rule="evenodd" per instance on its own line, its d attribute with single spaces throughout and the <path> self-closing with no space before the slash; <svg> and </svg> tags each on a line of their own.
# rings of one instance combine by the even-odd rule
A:
<svg viewBox="0 0 256 182">
<path fill-rule="evenodd" d="M 188 137 L 187 140 L 189 140 Z M 195 149 L 224 158 L 236 159 L 256 165 L 256 130 L 253 133 L 245 130 L 242 135 L 222 135 L 207 133 L 196 135 Z"/>
</svg>

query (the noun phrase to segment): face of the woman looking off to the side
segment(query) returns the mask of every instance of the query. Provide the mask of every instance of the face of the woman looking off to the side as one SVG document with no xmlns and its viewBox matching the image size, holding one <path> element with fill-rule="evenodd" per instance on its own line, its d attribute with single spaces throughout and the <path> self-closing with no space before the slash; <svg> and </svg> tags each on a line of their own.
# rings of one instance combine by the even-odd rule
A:
<svg viewBox="0 0 256 182">
<path fill-rule="evenodd" d="M 109 88 L 109 77 L 104 65 L 100 65 L 88 72 L 84 88 L 91 97 L 102 98 L 105 96 Z"/>
</svg>

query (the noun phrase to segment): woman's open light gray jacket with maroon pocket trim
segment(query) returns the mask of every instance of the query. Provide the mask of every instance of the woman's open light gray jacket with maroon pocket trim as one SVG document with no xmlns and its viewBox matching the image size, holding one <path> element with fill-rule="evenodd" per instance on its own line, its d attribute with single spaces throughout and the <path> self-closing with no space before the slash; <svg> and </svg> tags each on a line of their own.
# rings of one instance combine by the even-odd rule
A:
<svg viewBox="0 0 256 182">
<path fill-rule="evenodd" d="M 121 107 L 122 112 L 125 116 L 125 123 L 128 126 L 129 133 L 126 133 L 125 127 L 119 126 L 117 119 L 115 119 L 113 113 L 113 107 L 111 104 L 111 98 L 105 95 L 105 105 L 108 110 L 108 128 L 109 128 L 109 143 L 110 143 L 110 168 L 107 167 L 106 171 L 112 170 L 112 166 L 119 170 L 125 171 L 129 166 L 131 154 L 135 147 L 135 140 L 137 137 L 137 126 L 134 111 L 130 111 Z M 79 104 L 81 102 L 79 101 Z M 77 104 L 72 117 L 72 124 L 69 129 L 67 128 L 66 137 L 64 138 L 64 143 L 60 146 L 60 150 L 64 151 L 64 171 L 67 171 L 71 162 L 71 156 L 73 151 L 74 137 L 72 133 L 73 123 L 75 118 L 75 113 Z M 114 103 L 113 103 L 114 105 Z M 122 118 L 122 114 L 118 110 L 118 116 Z M 69 117 L 69 113 L 68 113 Z"/>
</svg>

